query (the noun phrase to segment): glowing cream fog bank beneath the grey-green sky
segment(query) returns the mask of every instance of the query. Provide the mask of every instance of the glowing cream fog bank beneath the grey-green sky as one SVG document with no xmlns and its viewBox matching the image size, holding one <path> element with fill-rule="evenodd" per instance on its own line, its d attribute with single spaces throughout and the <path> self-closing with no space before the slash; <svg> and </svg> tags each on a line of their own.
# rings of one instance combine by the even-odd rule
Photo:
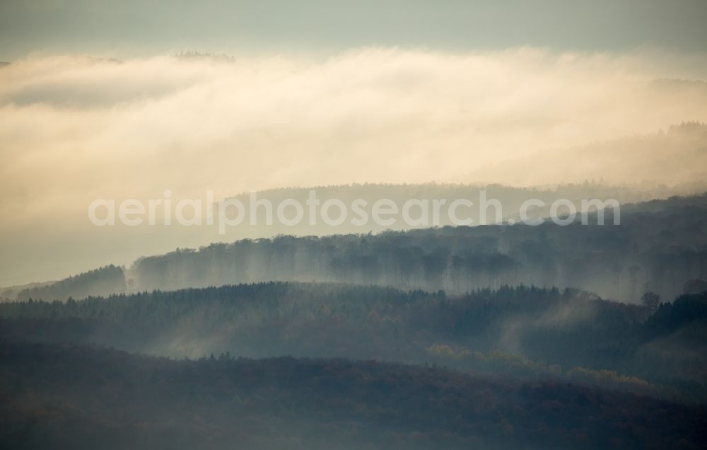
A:
<svg viewBox="0 0 707 450">
<path fill-rule="evenodd" d="M 658 132 L 707 122 L 706 61 L 535 48 L 30 56 L 0 68 L 1 227 L 51 217 L 60 239 L 89 226 L 96 197 L 165 189 L 699 180 L 704 137 Z"/>
</svg>

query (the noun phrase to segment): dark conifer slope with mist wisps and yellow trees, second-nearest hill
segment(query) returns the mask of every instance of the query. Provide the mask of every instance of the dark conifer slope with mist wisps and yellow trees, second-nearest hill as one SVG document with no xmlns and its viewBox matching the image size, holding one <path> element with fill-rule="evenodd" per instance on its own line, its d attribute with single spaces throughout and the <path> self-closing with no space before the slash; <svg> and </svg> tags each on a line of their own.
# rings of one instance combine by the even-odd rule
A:
<svg viewBox="0 0 707 450">
<path fill-rule="evenodd" d="M 707 295 L 657 311 L 576 289 L 461 296 L 264 283 L 0 305 L 0 337 L 201 357 L 349 357 L 707 398 Z"/>
</svg>

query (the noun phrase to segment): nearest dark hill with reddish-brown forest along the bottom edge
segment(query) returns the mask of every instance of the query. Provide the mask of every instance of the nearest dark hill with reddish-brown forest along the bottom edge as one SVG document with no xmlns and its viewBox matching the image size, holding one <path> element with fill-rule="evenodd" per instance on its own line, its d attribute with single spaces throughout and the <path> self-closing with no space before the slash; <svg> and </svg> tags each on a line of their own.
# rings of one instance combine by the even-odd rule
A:
<svg viewBox="0 0 707 450">
<path fill-rule="evenodd" d="M 0 342 L 17 449 L 700 449 L 707 411 L 342 359 L 168 360 Z"/>
</svg>

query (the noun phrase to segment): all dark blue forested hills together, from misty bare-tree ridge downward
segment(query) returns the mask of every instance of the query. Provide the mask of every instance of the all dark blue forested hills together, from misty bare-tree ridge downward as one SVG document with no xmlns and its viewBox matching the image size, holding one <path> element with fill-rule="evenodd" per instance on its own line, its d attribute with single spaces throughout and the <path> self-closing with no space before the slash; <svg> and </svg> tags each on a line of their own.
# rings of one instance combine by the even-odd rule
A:
<svg viewBox="0 0 707 450">
<path fill-rule="evenodd" d="M 0 442 L 703 448 L 707 195 L 606 216 L 215 243 L 6 289 Z"/>
</svg>

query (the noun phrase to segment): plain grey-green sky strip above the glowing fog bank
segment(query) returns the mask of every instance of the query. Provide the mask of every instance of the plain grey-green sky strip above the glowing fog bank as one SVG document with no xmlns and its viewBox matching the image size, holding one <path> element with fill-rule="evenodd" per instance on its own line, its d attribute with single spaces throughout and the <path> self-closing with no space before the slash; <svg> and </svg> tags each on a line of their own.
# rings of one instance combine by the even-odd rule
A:
<svg viewBox="0 0 707 450">
<path fill-rule="evenodd" d="M 704 50 L 703 0 L 23 0 L 0 2 L 0 60 L 28 52 L 338 52 L 403 45 Z"/>
</svg>

